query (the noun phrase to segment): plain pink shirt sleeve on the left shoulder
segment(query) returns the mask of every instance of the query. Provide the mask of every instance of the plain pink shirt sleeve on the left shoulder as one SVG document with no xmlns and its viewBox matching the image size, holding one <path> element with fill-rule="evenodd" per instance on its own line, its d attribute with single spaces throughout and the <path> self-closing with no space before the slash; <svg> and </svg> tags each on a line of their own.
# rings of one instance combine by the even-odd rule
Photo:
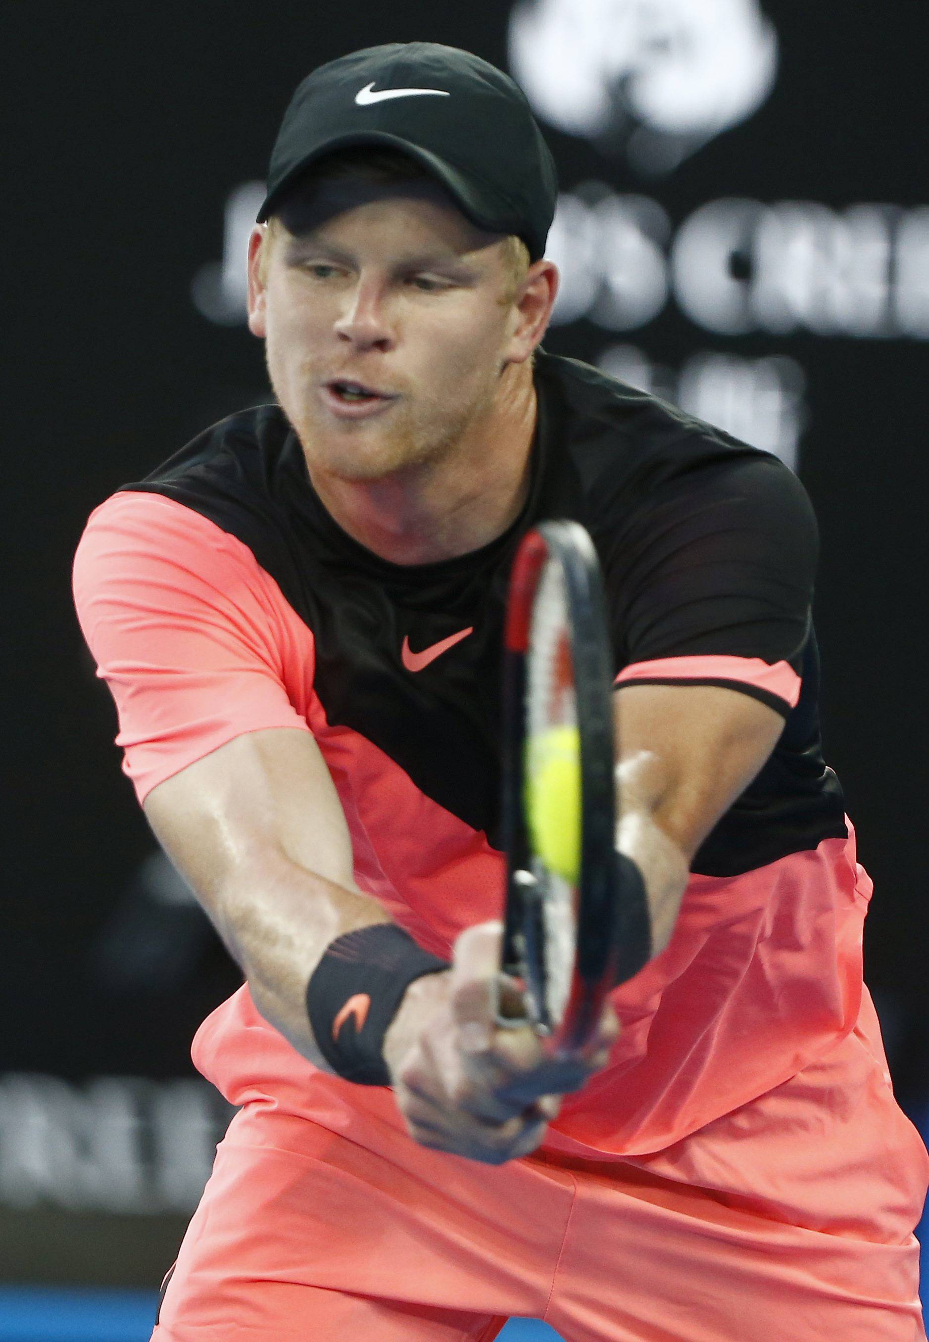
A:
<svg viewBox="0 0 929 1342">
<path fill-rule="evenodd" d="M 74 599 L 140 803 L 244 731 L 309 730 L 285 687 L 293 611 L 251 550 L 192 509 L 114 494 L 81 538 Z"/>
</svg>

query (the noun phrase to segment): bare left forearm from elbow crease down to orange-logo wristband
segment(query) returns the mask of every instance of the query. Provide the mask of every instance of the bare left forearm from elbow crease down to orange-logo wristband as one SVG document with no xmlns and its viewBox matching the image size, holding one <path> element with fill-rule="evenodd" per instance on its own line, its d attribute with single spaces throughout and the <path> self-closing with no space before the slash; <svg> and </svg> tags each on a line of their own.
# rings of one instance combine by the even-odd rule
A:
<svg viewBox="0 0 929 1342">
<path fill-rule="evenodd" d="M 273 854 L 236 871 L 211 911 L 262 1016 L 332 1071 L 310 1028 L 306 985 L 337 937 L 391 921 L 377 900 Z"/>
</svg>

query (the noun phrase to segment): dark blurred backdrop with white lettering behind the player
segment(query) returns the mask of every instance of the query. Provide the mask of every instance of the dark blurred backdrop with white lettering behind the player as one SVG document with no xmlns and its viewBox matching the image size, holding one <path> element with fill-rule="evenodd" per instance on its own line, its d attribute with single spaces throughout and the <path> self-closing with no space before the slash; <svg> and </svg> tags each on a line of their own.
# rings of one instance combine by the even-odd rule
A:
<svg viewBox="0 0 929 1342">
<path fill-rule="evenodd" d="M 244 246 L 283 109 L 364 46 L 467 47 L 558 164 L 545 348 L 775 451 L 822 529 L 828 762 L 875 882 L 866 977 L 929 1106 L 926 15 L 873 0 L 1 8 L 8 290 L 0 1279 L 157 1286 L 227 1114 L 189 1062 L 239 982 L 119 770 L 72 612 L 83 523 L 271 395 Z"/>
</svg>

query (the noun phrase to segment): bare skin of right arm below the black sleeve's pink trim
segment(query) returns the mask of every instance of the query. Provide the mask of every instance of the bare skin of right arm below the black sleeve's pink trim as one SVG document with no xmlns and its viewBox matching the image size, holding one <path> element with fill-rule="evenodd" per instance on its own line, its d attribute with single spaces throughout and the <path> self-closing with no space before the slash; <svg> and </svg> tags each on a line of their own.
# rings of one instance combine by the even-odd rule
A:
<svg viewBox="0 0 929 1342">
<path fill-rule="evenodd" d="M 614 694 L 614 719 L 616 845 L 642 872 L 656 956 L 694 854 L 768 760 L 784 718 L 721 686 L 630 683 Z"/>
</svg>

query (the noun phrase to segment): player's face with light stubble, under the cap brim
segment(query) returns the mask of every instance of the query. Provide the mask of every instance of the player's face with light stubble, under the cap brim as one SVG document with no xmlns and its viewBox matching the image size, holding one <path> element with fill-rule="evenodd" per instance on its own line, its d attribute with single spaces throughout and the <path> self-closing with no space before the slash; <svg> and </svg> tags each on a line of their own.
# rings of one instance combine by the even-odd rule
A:
<svg viewBox="0 0 929 1342">
<path fill-rule="evenodd" d="M 250 255 L 250 326 L 310 470 L 375 480 L 446 454 L 493 412 L 501 370 L 525 360 L 501 305 L 501 235 L 438 184 L 349 181 L 282 216 L 266 285 Z M 383 393 L 352 399 L 353 381 Z"/>
</svg>

